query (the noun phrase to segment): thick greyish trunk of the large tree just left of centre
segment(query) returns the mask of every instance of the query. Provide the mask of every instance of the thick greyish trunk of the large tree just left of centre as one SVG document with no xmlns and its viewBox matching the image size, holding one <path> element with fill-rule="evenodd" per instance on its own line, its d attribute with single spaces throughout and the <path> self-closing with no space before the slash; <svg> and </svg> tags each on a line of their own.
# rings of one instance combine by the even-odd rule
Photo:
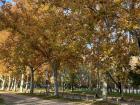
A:
<svg viewBox="0 0 140 105">
<path fill-rule="evenodd" d="M 57 62 L 52 63 L 52 69 L 53 69 L 53 77 L 54 77 L 54 96 L 59 96 L 58 92 L 58 67 L 59 64 Z"/>
</svg>

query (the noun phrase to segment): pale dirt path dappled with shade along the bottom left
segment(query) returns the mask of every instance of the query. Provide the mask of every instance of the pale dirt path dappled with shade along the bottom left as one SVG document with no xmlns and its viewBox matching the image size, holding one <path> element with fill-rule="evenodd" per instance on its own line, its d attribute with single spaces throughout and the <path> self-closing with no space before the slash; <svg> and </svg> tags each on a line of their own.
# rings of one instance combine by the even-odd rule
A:
<svg viewBox="0 0 140 105">
<path fill-rule="evenodd" d="M 76 102 L 62 102 L 59 100 L 43 100 L 37 97 L 9 93 L 2 93 L 1 97 L 5 100 L 6 105 L 86 105 L 85 103 L 82 104 Z"/>
</svg>

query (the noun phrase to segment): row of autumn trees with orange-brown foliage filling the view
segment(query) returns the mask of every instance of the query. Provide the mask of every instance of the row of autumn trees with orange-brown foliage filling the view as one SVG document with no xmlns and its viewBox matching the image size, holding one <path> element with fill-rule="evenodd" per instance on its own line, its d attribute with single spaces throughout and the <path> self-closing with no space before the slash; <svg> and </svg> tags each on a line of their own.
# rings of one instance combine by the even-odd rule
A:
<svg viewBox="0 0 140 105">
<path fill-rule="evenodd" d="M 96 75 L 99 90 L 106 77 L 120 90 L 127 84 L 130 57 L 138 54 L 139 0 L 1 3 L 0 29 L 9 32 L 0 45 L 1 62 L 8 74 L 30 71 L 31 93 L 43 64 L 53 72 L 56 96 L 58 72 L 75 73 L 81 65 Z"/>
</svg>

